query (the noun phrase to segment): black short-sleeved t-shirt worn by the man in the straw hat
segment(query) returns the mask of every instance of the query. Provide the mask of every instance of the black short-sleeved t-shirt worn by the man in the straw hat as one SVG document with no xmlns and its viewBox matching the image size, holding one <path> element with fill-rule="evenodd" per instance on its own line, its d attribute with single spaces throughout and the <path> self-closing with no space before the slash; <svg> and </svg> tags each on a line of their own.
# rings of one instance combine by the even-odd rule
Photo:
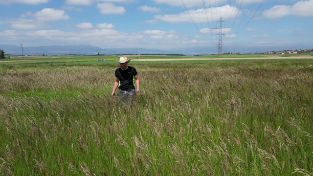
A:
<svg viewBox="0 0 313 176">
<path fill-rule="evenodd" d="M 118 88 L 121 90 L 135 89 L 135 78 L 138 73 L 132 66 L 127 66 L 125 70 L 121 67 L 115 70 L 115 77 L 118 78 Z"/>
</svg>

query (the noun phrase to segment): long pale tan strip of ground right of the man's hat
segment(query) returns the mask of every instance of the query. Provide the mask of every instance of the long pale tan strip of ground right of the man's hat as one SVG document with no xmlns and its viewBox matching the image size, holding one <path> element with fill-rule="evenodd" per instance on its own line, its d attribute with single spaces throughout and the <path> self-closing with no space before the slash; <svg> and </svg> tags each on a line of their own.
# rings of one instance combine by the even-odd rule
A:
<svg viewBox="0 0 313 176">
<path fill-rule="evenodd" d="M 132 61 L 199 61 L 199 60 L 247 60 L 247 59 L 313 59 L 313 56 L 291 56 L 291 57 L 255 57 L 255 58 L 179 58 L 179 59 L 133 59 Z"/>
</svg>

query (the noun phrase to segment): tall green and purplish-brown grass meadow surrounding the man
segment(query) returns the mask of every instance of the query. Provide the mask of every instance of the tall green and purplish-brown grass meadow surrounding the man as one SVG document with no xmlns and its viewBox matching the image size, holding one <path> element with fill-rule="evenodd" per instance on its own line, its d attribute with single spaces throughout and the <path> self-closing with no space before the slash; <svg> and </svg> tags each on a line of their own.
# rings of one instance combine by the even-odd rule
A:
<svg viewBox="0 0 313 176">
<path fill-rule="evenodd" d="M 0 175 L 312 175 L 313 59 L 114 60 L 0 64 Z"/>
</svg>

